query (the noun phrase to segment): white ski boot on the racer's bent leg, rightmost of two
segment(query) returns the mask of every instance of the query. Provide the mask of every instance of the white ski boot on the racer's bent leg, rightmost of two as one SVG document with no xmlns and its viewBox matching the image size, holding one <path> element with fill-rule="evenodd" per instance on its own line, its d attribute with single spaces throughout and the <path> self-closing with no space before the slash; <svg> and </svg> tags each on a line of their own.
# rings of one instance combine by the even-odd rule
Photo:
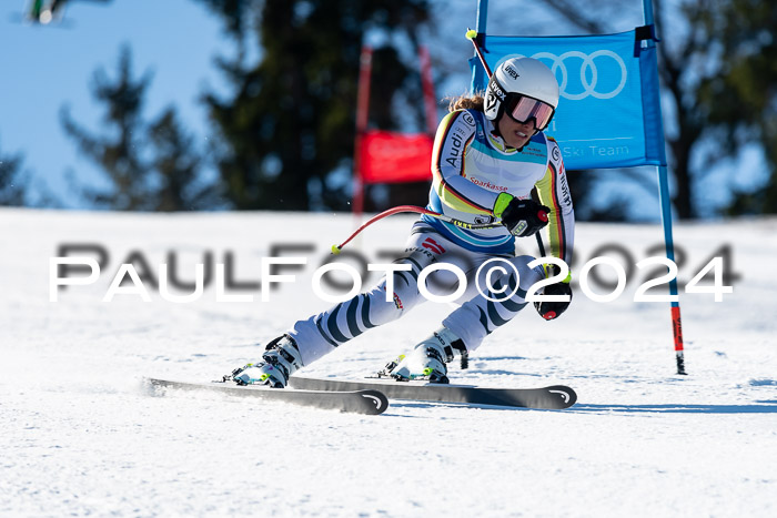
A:
<svg viewBox="0 0 777 518">
<path fill-rule="evenodd" d="M 466 368 L 467 351 L 464 342 L 447 327 L 441 327 L 421 342 L 407 355 L 391 362 L 379 373 L 379 377 L 391 376 L 397 382 L 426 379 L 431 383 L 450 383 L 447 366 L 458 355 L 462 368 Z"/>
</svg>

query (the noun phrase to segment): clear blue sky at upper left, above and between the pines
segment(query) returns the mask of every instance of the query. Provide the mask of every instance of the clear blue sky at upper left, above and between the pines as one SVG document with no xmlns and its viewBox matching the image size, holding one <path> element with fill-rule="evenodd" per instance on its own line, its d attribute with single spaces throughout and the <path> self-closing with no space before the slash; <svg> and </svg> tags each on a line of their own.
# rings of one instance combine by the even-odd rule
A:
<svg viewBox="0 0 777 518">
<path fill-rule="evenodd" d="M 0 155 L 24 155 L 24 165 L 69 206 L 64 171 L 97 183 L 102 175 L 78 155 L 59 121 L 68 103 L 75 121 L 97 131 L 100 106 L 91 94 L 93 71 L 115 77 L 119 50 L 130 43 L 133 75 L 153 72 L 144 114 L 179 109 L 190 132 L 205 139 L 205 112 L 198 102 L 204 84 L 222 85 L 213 57 L 232 52 L 219 20 L 191 0 L 73 1 L 63 23 L 19 21 L 28 0 L 0 2 Z M 99 184 L 99 183 L 98 183 Z"/>
</svg>

